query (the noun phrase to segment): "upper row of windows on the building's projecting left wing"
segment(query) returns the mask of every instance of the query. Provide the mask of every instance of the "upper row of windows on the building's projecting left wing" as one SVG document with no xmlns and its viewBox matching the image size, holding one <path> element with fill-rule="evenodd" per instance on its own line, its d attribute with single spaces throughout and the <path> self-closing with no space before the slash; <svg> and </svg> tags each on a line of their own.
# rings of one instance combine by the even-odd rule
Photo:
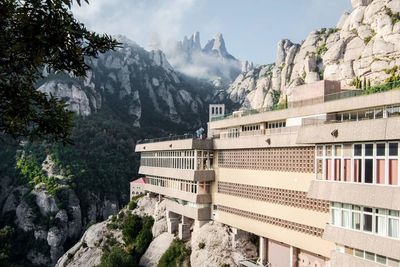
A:
<svg viewBox="0 0 400 267">
<path fill-rule="evenodd" d="M 213 157 L 212 151 L 205 150 L 144 152 L 140 157 L 140 165 L 186 170 L 210 170 L 212 169 Z"/>
</svg>

